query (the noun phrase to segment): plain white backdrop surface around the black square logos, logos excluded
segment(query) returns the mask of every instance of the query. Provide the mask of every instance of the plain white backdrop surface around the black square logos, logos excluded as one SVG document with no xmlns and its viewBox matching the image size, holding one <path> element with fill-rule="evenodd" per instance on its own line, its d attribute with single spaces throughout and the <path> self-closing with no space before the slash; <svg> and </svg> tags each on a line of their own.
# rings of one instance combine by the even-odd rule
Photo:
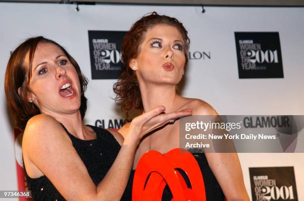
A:
<svg viewBox="0 0 304 201">
<path fill-rule="evenodd" d="M 145 13 L 157 11 L 183 22 L 190 60 L 183 95 L 210 103 L 222 115 L 304 115 L 304 8 L 0 3 L 0 80 L 12 51 L 25 38 L 43 35 L 67 48 L 89 79 L 85 121 L 122 119 L 111 97 L 116 80 L 91 80 L 88 30 L 127 31 Z M 284 78 L 239 79 L 234 32 L 279 32 Z M 14 139 L 0 87 L 0 190 L 17 190 Z M 303 153 L 239 154 L 251 198 L 248 167 L 294 166 L 299 200 L 304 200 Z"/>
</svg>

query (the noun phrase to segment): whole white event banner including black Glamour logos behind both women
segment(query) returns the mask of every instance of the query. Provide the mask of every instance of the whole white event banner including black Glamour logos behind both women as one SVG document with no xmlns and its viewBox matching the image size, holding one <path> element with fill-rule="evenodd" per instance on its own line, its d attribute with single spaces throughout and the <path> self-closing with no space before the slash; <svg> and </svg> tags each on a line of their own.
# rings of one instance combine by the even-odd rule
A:
<svg viewBox="0 0 304 201">
<path fill-rule="evenodd" d="M 26 190 L 21 132 L 7 111 L 3 79 L 12 50 L 45 36 L 64 46 L 89 79 L 85 123 L 119 129 L 112 99 L 120 46 L 148 12 L 179 19 L 191 40 L 180 92 L 220 115 L 242 115 L 255 127 L 278 127 L 282 115 L 304 115 L 304 7 L 205 7 L 0 3 L 0 190 Z M 269 119 L 263 124 L 260 120 Z M 273 126 L 276 125 L 276 126 Z M 298 137 L 301 131 L 297 131 Z M 297 146 L 303 146 L 299 143 Z M 294 149 L 295 150 L 295 149 Z M 286 148 L 283 152 L 293 152 Z M 301 151 L 300 151 L 301 152 Z M 304 153 L 239 153 L 252 201 L 304 200 Z"/>
</svg>

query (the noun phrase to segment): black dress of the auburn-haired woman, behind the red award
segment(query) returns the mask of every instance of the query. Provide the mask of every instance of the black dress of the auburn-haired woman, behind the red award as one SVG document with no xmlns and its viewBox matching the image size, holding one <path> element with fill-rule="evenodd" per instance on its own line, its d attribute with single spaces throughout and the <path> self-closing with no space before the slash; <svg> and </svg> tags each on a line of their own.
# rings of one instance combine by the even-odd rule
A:
<svg viewBox="0 0 304 201">
<path fill-rule="evenodd" d="M 198 162 L 203 178 L 204 178 L 204 184 L 205 184 L 205 191 L 206 191 L 206 200 L 207 201 L 224 201 L 225 196 L 224 193 L 215 178 L 212 170 L 210 169 L 208 165 L 207 158 L 204 153 L 192 153 L 192 155 L 195 157 L 196 161 Z M 125 193 L 125 199 L 126 201 L 132 200 L 132 184 L 134 179 L 134 173 L 135 170 L 132 170 L 130 180 L 128 182 L 127 188 Z M 184 177 L 186 184 L 188 185 L 188 188 L 190 188 L 190 182 L 187 180 L 187 177 L 184 172 L 180 171 L 181 175 Z M 130 193 L 130 194 L 129 194 Z M 171 201 L 172 194 L 170 192 L 170 189 L 168 186 L 165 187 L 163 194 L 162 194 L 162 201 Z"/>
</svg>

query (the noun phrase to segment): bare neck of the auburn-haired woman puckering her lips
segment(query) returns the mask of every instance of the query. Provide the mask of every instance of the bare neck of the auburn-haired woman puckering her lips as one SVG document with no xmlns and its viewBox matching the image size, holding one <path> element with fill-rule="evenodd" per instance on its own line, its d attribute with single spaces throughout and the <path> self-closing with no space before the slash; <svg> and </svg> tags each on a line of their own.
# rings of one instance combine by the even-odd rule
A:
<svg viewBox="0 0 304 201">
<path fill-rule="evenodd" d="M 150 111 L 157 106 L 164 106 L 165 112 L 176 109 L 175 102 L 179 96 L 175 92 L 175 85 L 140 84 L 144 111 Z M 175 107 L 174 107 L 175 106 Z"/>
</svg>

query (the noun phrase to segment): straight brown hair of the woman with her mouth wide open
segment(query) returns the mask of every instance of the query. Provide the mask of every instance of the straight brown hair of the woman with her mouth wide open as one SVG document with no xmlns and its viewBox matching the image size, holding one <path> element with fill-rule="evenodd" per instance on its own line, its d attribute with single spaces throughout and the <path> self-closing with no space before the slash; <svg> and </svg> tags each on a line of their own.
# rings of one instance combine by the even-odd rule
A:
<svg viewBox="0 0 304 201">
<path fill-rule="evenodd" d="M 81 105 L 79 111 L 82 119 L 84 118 L 86 111 L 87 99 L 84 96 L 84 91 L 86 90 L 88 81 L 82 74 L 75 59 L 61 45 L 53 40 L 42 36 L 29 38 L 21 43 L 11 54 L 7 63 L 4 78 L 4 91 L 8 108 L 15 124 L 22 130 L 25 129 L 26 123 L 31 117 L 40 114 L 38 107 L 34 103 L 30 103 L 27 99 L 27 94 L 30 91 L 28 85 L 31 78 L 32 63 L 38 43 L 52 43 L 57 45 L 73 64 L 80 82 Z M 27 53 L 29 53 L 28 65 L 24 63 Z M 19 88 L 20 92 L 18 92 Z"/>
</svg>

